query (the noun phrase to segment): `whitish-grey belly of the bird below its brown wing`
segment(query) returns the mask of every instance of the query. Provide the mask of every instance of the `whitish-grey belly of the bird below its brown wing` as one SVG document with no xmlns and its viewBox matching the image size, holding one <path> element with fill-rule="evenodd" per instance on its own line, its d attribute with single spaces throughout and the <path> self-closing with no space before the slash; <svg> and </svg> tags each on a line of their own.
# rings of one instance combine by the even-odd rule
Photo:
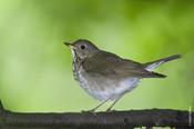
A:
<svg viewBox="0 0 194 129">
<path fill-rule="evenodd" d="M 79 73 L 81 87 L 92 97 L 99 100 L 115 100 L 134 89 L 140 78 L 127 78 L 120 81 L 106 77 L 91 77 L 83 70 Z"/>
</svg>

